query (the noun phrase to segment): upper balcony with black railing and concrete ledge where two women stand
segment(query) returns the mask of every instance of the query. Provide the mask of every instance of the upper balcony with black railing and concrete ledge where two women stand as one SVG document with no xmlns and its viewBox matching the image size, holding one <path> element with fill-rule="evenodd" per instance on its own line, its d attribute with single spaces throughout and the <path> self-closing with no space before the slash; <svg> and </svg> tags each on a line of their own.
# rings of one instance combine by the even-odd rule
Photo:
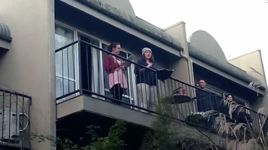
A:
<svg viewBox="0 0 268 150">
<path fill-rule="evenodd" d="M 88 111 L 150 126 L 154 116 L 151 114 L 157 114 L 154 106 L 165 97 L 170 101 L 172 117 L 194 126 L 211 130 L 215 117 L 223 113 L 220 110 L 223 97 L 172 77 L 165 79 L 163 73 L 128 60 L 131 54 L 121 51 L 115 55 L 105 49 L 78 40 L 56 50 L 57 118 Z M 107 72 L 118 66 L 105 65 L 107 55 L 129 65 L 121 68 L 119 75 L 111 72 L 108 75 Z M 146 68 L 143 73 L 142 68 Z M 111 80 L 114 83 L 120 79 L 121 86 L 113 88 Z M 144 84 L 145 81 L 148 82 Z M 121 96 L 120 93 L 122 101 L 117 96 Z M 208 121 L 200 118 L 200 114 L 208 110 L 217 113 Z M 247 108 L 246 113 L 252 117 L 252 127 L 259 131 L 263 118 Z M 243 118 L 236 120 L 243 122 Z"/>
</svg>

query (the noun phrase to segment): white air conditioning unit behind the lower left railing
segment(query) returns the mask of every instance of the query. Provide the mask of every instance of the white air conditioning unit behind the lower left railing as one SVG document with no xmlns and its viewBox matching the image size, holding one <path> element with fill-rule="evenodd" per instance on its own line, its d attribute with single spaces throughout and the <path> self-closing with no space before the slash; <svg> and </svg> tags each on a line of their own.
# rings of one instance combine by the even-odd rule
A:
<svg viewBox="0 0 268 150">
<path fill-rule="evenodd" d="M 0 140 L 16 142 L 20 136 L 20 118 L 16 111 L 0 109 Z"/>
</svg>

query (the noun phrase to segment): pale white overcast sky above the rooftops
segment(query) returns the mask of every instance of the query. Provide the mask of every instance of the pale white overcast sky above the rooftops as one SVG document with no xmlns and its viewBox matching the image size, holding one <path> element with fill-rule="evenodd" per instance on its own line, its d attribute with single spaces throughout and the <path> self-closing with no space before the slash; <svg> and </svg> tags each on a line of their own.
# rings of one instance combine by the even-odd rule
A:
<svg viewBox="0 0 268 150">
<path fill-rule="evenodd" d="M 260 49 L 268 79 L 266 0 L 129 1 L 136 16 L 159 28 L 183 21 L 186 23 L 187 39 L 197 30 L 210 33 L 223 49 L 227 59 Z"/>
</svg>

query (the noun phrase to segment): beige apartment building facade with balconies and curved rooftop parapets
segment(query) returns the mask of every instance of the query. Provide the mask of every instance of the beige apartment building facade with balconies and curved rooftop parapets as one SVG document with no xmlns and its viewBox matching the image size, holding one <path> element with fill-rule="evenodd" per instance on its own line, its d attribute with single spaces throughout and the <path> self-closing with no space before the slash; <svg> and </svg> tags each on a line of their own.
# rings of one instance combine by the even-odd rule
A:
<svg viewBox="0 0 268 150">
<path fill-rule="evenodd" d="M 86 126 L 105 127 L 117 119 L 128 122 L 129 134 L 133 135 L 126 139 L 128 144 L 139 145 L 133 138 L 142 138 L 155 119 L 152 115 L 155 111 L 141 106 L 138 100 L 135 66 L 143 47 L 152 49 L 159 69 L 174 69 L 168 79 L 157 80 L 155 92 L 158 99 L 173 97 L 176 119 L 185 121 L 188 115 L 199 112 L 194 98 L 199 79 L 206 80 L 207 90 L 219 99 L 232 93 L 247 108 L 256 110 L 266 105 L 267 85 L 260 54 L 255 66 L 241 66 L 243 60 L 239 58 L 228 62 L 207 32 L 197 31 L 187 40 L 184 22 L 164 30 L 157 28 L 136 17 L 128 0 L 4 0 L 3 3 L 0 87 L 7 94 L 2 94 L 0 107 L 3 114 L 14 111 L 15 118 L 19 118 L 16 122 L 20 122 L 7 128 L 5 141 L 2 134 L 3 146 L 55 149 L 50 141 L 38 142 L 30 136 L 57 133 L 62 138 L 71 135 L 77 140 Z M 122 46 L 121 59 L 136 55 L 125 71 L 128 90 L 123 94 L 122 105 L 111 103 L 108 74 L 103 68 L 103 58 L 110 54 L 108 45 L 113 41 Z M 245 69 L 248 67 L 262 75 Z M 248 87 L 252 81 L 260 83 L 259 88 Z M 253 114 L 253 110 L 248 113 Z M 255 119 L 259 122 L 258 114 Z M 193 124 L 197 126 L 198 122 Z M 11 140 L 12 130 L 17 126 L 18 138 Z M 206 130 L 207 126 L 203 128 Z M 25 133 L 28 138 L 23 141 L 20 137 Z"/>
</svg>

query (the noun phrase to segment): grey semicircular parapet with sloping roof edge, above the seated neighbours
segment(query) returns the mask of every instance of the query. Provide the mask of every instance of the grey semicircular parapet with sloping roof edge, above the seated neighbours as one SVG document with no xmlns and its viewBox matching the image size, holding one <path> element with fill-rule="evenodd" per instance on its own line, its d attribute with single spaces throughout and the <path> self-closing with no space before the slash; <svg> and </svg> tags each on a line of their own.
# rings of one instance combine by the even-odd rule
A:
<svg viewBox="0 0 268 150">
<path fill-rule="evenodd" d="M 216 68 L 238 77 L 244 82 L 259 82 L 260 80 L 248 75 L 242 69 L 230 64 L 219 46 L 219 43 L 206 31 L 196 31 L 188 39 L 189 54 L 196 59 L 206 62 Z M 264 86 L 263 86 L 264 87 Z"/>
</svg>

